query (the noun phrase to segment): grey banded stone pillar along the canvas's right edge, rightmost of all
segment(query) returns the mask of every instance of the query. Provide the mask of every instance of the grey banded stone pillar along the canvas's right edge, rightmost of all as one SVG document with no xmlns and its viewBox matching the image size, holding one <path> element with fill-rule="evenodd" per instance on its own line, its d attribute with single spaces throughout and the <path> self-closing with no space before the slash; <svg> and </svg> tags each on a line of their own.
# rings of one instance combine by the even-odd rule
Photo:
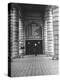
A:
<svg viewBox="0 0 60 80">
<path fill-rule="evenodd" d="M 53 10 L 53 35 L 54 35 L 54 56 L 53 59 L 58 59 L 59 55 L 59 8 L 52 7 Z"/>
</svg>

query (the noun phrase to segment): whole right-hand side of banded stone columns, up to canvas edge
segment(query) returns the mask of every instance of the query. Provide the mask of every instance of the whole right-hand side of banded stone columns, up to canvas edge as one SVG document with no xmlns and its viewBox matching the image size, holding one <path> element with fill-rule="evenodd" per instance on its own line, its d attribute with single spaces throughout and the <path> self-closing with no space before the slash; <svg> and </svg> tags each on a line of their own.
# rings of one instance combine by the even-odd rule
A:
<svg viewBox="0 0 60 80">
<path fill-rule="evenodd" d="M 54 56 L 58 54 L 58 7 L 47 7 L 44 18 L 44 52 Z"/>
</svg>

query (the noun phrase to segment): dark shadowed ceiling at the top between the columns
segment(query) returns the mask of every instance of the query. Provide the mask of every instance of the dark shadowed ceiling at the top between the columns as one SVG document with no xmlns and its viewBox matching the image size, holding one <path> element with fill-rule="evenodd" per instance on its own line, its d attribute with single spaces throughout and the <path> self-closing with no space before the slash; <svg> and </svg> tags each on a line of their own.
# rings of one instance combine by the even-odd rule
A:
<svg viewBox="0 0 60 80">
<path fill-rule="evenodd" d="M 45 9 L 47 5 L 37 5 L 37 4 L 21 4 L 22 15 L 26 17 L 28 14 L 40 14 L 41 17 L 44 17 Z M 36 15 L 35 15 L 36 16 Z"/>
</svg>

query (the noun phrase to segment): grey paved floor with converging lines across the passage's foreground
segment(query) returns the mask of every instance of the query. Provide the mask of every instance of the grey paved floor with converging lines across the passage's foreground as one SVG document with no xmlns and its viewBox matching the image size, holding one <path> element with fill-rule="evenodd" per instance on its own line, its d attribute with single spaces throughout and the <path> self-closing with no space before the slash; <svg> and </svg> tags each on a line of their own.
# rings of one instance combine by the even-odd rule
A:
<svg viewBox="0 0 60 80">
<path fill-rule="evenodd" d="M 25 56 L 14 59 L 11 63 L 11 76 L 35 76 L 58 74 L 58 60 L 52 60 L 45 55 Z"/>
</svg>

